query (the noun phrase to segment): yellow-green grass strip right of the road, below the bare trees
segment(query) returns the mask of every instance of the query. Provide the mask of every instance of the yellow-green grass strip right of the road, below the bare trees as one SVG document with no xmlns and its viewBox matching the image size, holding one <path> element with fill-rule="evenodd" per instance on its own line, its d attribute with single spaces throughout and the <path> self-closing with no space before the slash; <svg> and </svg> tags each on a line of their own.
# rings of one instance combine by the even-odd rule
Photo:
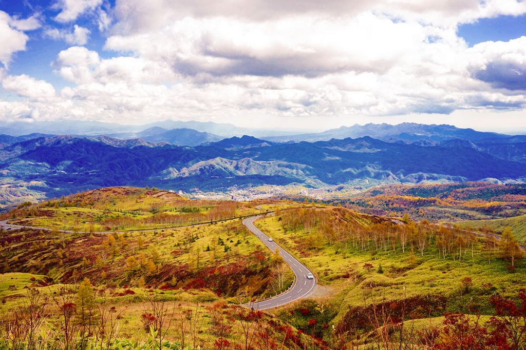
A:
<svg viewBox="0 0 526 350">
<path fill-rule="evenodd" d="M 416 264 L 409 261 L 407 250 L 406 254 L 401 250 L 396 254 L 390 251 L 371 254 L 348 247 L 337 252 L 335 247 L 328 245 L 322 245 L 319 250 L 306 250 L 305 241 L 309 234 L 302 229 L 285 232 L 278 220 L 277 217 L 267 217 L 259 220 L 257 225 L 311 268 L 321 285 L 334 291 L 332 301 L 341 303 L 336 321 L 345 314 L 348 306 L 363 305 L 364 296 L 369 301 L 375 296 L 378 301 L 382 296 L 387 300 L 402 299 L 404 293 L 407 296 L 443 294 L 452 297 L 451 311 L 461 311 L 469 302 L 488 307 L 491 292 L 483 287 L 484 283 L 490 282 L 499 293 L 510 296 L 516 295 L 526 283 L 522 265 L 518 273 L 509 273 L 507 264 L 500 260 L 492 259 L 488 264 L 479 247 L 474 249 L 473 258 L 468 251 L 461 262 L 442 259 L 436 249 L 430 247 L 423 257 L 417 254 Z M 362 217 L 362 220 L 367 225 L 367 217 Z M 374 268 L 366 271 L 362 268 L 365 263 L 371 263 Z M 382 274 L 377 272 L 379 264 L 384 271 Z M 460 280 L 464 277 L 473 279 L 477 295 L 460 298 Z"/>
</svg>

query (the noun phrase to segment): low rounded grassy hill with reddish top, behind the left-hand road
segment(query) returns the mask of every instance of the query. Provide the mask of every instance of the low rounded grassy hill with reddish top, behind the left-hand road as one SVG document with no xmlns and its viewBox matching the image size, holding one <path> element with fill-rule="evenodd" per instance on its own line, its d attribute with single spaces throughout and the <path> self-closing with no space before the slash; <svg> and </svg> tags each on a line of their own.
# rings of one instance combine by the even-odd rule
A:
<svg viewBox="0 0 526 350">
<path fill-rule="evenodd" d="M 220 213 L 221 204 L 218 201 L 188 200 L 165 190 L 108 187 L 25 207 L 10 215 L 17 217 L 13 223 L 19 225 L 77 231 L 115 231 L 184 226 L 207 221 L 207 215 L 228 218 L 259 212 L 254 208 L 257 204 L 236 203 L 235 210 Z M 179 217 L 182 222 L 170 225 L 147 222 L 159 215 L 168 215 L 174 220 Z M 119 222 L 119 219 L 123 222 Z"/>
</svg>

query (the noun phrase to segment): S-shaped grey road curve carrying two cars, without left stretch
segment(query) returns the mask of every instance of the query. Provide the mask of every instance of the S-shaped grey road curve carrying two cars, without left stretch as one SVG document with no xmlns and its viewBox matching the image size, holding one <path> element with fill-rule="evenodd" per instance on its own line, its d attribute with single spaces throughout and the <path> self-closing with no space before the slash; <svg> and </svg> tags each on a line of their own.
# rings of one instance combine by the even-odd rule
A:
<svg viewBox="0 0 526 350">
<path fill-rule="evenodd" d="M 254 310 L 272 309 L 274 307 L 282 306 L 292 301 L 305 298 L 310 293 L 312 293 L 312 291 L 316 287 L 316 279 L 309 280 L 307 278 L 307 273 L 312 272 L 309 269 L 307 269 L 307 267 L 304 264 L 302 264 L 295 257 L 293 257 L 288 251 L 281 248 L 276 242 L 269 242 L 269 237 L 254 225 L 254 221 L 259 219 L 260 217 L 261 215 L 246 218 L 245 220 L 243 220 L 243 225 L 245 225 L 250 232 L 256 235 L 256 237 L 258 237 L 261 240 L 261 242 L 263 242 L 263 244 L 267 246 L 267 248 L 271 251 L 275 252 L 276 248 L 279 247 L 279 255 L 290 267 L 292 272 L 294 272 L 296 278 L 292 288 L 290 288 L 286 292 L 281 293 L 278 296 L 275 296 L 274 298 L 256 301 L 254 303 L 244 305 L 249 306 Z"/>
</svg>

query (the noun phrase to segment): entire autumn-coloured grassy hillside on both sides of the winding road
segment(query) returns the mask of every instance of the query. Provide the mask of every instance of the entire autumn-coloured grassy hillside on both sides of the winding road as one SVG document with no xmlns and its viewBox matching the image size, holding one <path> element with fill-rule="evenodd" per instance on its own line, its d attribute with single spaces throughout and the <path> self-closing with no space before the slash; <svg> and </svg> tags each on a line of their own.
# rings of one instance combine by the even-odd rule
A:
<svg viewBox="0 0 526 350">
<path fill-rule="evenodd" d="M 445 188 L 436 190 L 445 192 Z M 149 330 L 152 325 L 154 332 L 166 330 L 164 341 L 181 350 L 181 343 L 190 345 L 187 350 L 245 348 L 248 339 L 254 345 L 246 348 L 257 349 L 373 344 L 421 348 L 416 337 L 425 330 L 437 334 L 429 347 L 439 349 L 447 342 L 448 322 L 454 321 L 448 315 L 476 312 L 488 320 L 499 307 L 492 295 L 498 293 L 509 306 L 526 282 L 525 262 L 502 255 L 494 239 L 407 216 L 304 205 L 194 201 L 164 190 L 113 187 L 20 206 L 5 215 L 16 217 L 9 223 L 48 222 L 54 230 L 26 227 L 2 232 L 0 319 L 12 324 L 17 312 L 25 310 L 25 302 L 33 303 L 35 310 L 46 307 L 46 322 L 39 323 L 38 329 L 54 335 L 56 343 L 49 346 L 61 348 L 69 338 L 60 322 L 71 317 L 70 330 L 75 334 L 100 325 L 112 330 L 108 338 L 94 333 L 84 340 L 74 336 L 75 341 L 109 341 L 115 348 L 116 342 L 155 339 Z M 261 210 L 275 213 L 258 219 L 257 226 L 313 271 L 319 285 L 309 298 L 266 312 L 236 304 L 286 291 L 293 282 L 287 262 L 268 250 L 241 220 L 214 221 Z M 214 211 L 217 216 L 209 215 L 197 226 L 176 228 L 166 220 Z M 88 228 L 107 219 L 97 213 L 164 220 L 154 220 L 156 228 L 144 231 L 136 230 L 137 222 L 133 227 L 111 227 L 112 233 L 59 231 L 60 224 L 46 221 L 58 218 L 58 213 L 63 215 L 58 223 L 76 220 Z M 188 224 L 186 220 L 178 225 Z M 80 295 L 91 301 L 85 304 Z M 69 303 L 75 304 L 71 313 L 55 313 Z M 375 321 L 373 310 L 382 307 L 391 316 Z M 78 321 L 81 310 L 90 310 L 93 324 Z M 103 315 L 113 321 L 103 321 Z M 165 321 L 156 324 L 158 317 Z M 397 331 L 400 337 L 393 333 L 382 338 L 374 331 L 382 327 L 403 331 Z M 18 341 L 21 333 L 12 334 L 9 339 Z M 5 339 L 0 335 L 0 342 Z M 47 342 L 38 337 L 33 341 Z"/>
</svg>

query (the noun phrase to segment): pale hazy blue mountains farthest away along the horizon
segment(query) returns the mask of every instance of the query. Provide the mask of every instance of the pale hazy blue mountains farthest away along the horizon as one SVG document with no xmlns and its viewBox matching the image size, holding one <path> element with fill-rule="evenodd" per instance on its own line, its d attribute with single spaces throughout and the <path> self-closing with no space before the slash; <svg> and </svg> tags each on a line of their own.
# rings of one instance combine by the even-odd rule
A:
<svg viewBox="0 0 526 350">
<path fill-rule="evenodd" d="M 0 126 L 0 134 L 16 137 L 33 137 L 42 135 L 107 135 L 118 139 L 143 139 L 149 142 L 167 142 L 171 144 L 194 146 L 206 142 L 215 142 L 226 137 L 251 135 L 272 142 L 316 142 L 331 139 L 346 139 L 351 137 L 370 136 L 386 142 L 414 143 L 422 146 L 437 145 L 443 141 L 460 139 L 499 143 L 508 138 L 493 132 L 480 132 L 473 129 L 460 129 L 453 125 L 428 125 L 417 123 L 391 124 L 355 124 L 341 126 L 319 133 L 300 134 L 298 132 L 268 131 L 259 129 L 239 128 L 233 124 L 173 121 L 165 120 L 143 125 L 121 125 L 115 123 L 102 123 L 92 121 L 42 121 L 42 122 L 14 122 Z M 31 135 L 27 135 L 31 134 Z M 27 136 L 24 136 L 27 135 Z M 526 142 L 526 135 L 513 136 L 516 140 L 507 140 L 505 143 Z M 513 138 L 512 137 L 512 138 Z M 0 136 L 0 144 L 12 144 L 18 140 L 4 140 Z"/>
</svg>

